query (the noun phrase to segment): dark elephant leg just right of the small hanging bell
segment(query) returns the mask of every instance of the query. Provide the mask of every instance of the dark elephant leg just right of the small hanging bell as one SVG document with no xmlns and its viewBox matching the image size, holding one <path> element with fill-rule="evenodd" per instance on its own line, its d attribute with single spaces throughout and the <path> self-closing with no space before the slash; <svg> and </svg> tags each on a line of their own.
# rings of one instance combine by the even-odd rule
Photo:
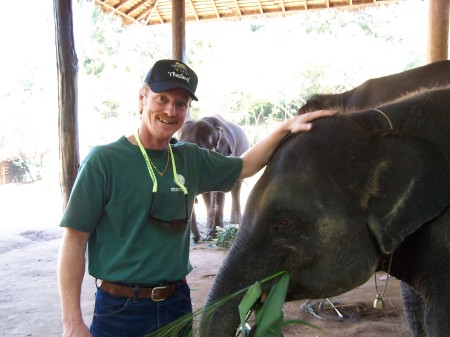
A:
<svg viewBox="0 0 450 337">
<path fill-rule="evenodd" d="M 405 282 L 400 282 L 400 288 L 403 298 L 403 310 L 411 337 L 427 337 L 422 296 Z"/>
</svg>

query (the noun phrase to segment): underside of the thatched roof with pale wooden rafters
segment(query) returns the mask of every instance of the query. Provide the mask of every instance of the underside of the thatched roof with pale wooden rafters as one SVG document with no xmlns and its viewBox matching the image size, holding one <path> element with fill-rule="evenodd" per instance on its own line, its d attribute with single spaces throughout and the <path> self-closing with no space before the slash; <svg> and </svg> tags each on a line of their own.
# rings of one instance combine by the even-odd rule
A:
<svg viewBox="0 0 450 337">
<path fill-rule="evenodd" d="M 183 0 L 176 0 L 183 1 Z M 126 24 L 157 25 L 172 22 L 172 0 L 95 0 L 120 15 Z M 185 0 L 188 21 L 240 19 L 245 16 L 284 15 L 298 11 L 388 4 L 398 0 Z"/>
</svg>

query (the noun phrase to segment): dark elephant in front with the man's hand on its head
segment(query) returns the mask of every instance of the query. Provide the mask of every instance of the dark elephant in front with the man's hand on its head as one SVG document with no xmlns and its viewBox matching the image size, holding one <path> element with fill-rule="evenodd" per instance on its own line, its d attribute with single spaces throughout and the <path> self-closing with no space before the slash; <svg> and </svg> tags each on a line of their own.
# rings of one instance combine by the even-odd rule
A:
<svg viewBox="0 0 450 337">
<path fill-rule="evenodd" d="M 337 296 L 387 272 L 393 254 L 390 274 L 423 299 L 413 325 L 448 336 L 450 87 L 379 109 L 393 131 L 367 110 L 317 120 L 281 144 L 208 304 L 281 270 L 291 276 L 288 301 Z M 202 335 L 233 336 L 240 300 L 202 320 Z"/>
</svg>

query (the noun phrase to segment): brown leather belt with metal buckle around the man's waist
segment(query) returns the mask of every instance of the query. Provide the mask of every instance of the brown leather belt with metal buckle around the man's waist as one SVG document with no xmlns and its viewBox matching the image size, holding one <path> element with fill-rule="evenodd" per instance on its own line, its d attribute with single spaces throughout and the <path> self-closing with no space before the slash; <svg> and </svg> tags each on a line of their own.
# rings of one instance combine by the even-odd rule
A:
<svg viewBox="0 0 450 337">
<path fill-rule="evenodd" d="M 155 302 L 164 301 L 177 293 L 177 290 L 186 282 L 181 280 L 178 282 L 169 283 L 164 286 L 153 288 L 126 286 L 108 281 L 101 281 L 100 289 L 108 294 L 128 298 L 150 298 Z"/>
</svg>

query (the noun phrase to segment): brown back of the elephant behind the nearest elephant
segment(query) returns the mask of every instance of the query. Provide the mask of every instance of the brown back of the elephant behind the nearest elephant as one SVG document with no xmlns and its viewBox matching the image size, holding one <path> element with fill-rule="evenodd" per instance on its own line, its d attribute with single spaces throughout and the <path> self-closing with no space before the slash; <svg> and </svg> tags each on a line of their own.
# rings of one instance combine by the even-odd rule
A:
<svg viewBox="0 0 450 337">
<path fill-rule="evenodd" d="M 419 89 L 445 87 L 449 84 L 450 61 L 443 60 L 401 73 L 372 78 L 340 94 L 313 95 L 299 109 L 299 113 L 326 109 L 362 110 Z"/>
</svg>

